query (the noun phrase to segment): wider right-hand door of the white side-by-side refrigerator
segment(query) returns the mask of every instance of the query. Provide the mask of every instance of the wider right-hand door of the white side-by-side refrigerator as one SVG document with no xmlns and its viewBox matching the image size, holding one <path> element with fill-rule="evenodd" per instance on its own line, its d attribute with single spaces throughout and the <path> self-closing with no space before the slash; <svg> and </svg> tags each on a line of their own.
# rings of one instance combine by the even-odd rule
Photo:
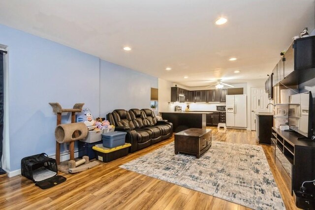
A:
<svg viewBox="0 0 315 210">
<path fill-rule="evenodd" d="M 247 96 L 234 96 L 234 121 L 235 127 L 247 127 Z"/>
</svg>

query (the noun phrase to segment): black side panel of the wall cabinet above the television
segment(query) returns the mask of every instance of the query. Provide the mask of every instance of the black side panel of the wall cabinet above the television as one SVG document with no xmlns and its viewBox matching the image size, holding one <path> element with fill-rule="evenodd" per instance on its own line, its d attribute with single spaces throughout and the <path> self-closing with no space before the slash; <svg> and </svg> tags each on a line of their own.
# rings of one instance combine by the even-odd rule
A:
<svg viewBox="0 0 315 210">
<path fill-rule="evenodd" d="M 315 68 L 315 36 L 294 40 L 294 70 Z"/>
</svg>

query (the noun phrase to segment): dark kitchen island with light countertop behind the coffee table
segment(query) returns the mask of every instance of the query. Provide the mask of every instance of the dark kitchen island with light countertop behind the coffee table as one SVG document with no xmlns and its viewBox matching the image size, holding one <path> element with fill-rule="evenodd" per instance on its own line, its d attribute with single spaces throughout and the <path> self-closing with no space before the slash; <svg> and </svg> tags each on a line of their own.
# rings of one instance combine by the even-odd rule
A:
<svg viewBox="0 0 315 210">
<path fill-rule="evenodd" d="M 160 112 L 163 120 L 173 123 L 174 132 L 180 132 L 188 128 L 206 129 L 206 115 L 212 112 Z"/>
</svg>

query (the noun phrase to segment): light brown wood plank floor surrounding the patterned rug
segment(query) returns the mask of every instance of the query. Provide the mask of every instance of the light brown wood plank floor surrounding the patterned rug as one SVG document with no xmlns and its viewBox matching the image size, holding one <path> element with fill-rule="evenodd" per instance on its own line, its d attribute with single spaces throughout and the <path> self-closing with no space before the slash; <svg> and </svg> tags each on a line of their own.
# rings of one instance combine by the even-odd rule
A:
<svg viewBox="0 0 315 210">
<path fill-rule="evenodd" d="M 255 132 L 213 129 L 213 141 L 256 145 Z M 157 180 L 125 169 L 120 165 L 156 150 L 174 138 L 163 141 L 126 157 L 101 163 L 78 174 L 60 175 L 65 182 L 42 190 L 22 176 L 0 178 L 0 209 L 152 209 L 152 210 L 247 210 L 249 208 L 224 201 L 166 181 Z M 269 146 L 262 146 L 280 189 L 287 210 L 296 209 L 289 190 L 271 159 Z"/>
</svg>

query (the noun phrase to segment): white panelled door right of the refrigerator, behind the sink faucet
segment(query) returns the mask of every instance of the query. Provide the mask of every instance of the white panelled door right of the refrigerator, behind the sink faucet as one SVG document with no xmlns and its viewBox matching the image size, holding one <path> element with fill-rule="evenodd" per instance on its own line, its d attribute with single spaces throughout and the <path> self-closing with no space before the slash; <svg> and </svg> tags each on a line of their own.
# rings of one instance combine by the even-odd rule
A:
<svg viewBox="0 0 315 210">
<path fill-rule="evenodd" d="M 271 112 L 266 107 L 270 103 L 268 93 L 264 87 L 251 88 L 251 130 L 256 130 L 256 116 L 258 112 Z M 271 105 L 271 109 L 273 106 Z"/>
</svg>

